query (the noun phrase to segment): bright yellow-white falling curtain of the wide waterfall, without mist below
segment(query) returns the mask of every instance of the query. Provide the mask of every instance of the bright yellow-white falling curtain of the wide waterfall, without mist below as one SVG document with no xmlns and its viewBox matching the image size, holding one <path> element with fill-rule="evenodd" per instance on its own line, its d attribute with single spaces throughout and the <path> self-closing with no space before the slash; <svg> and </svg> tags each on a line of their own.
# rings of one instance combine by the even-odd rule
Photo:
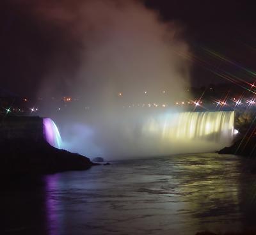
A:
<svg viewBox="0 0 256 235">
<path fill-rule="evenodd" d="M 219 142 L 233 137 L 234 111 L 164 114 L 150 118 L 143 132 L 159 133 L 163 139 Z"/>
</svg>

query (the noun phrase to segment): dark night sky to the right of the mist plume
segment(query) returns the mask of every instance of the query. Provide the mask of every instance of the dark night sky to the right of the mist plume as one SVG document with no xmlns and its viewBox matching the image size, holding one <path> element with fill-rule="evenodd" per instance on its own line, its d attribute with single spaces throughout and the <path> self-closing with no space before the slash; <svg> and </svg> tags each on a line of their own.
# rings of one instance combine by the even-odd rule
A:
<svg viewBox="0 0 256 235">
<path fill-rule="evenodd" d="M 228 73 L 249 82 L 256 80 L 252 73 L 241 67 L 256 70 L 255 4 L 252 1 L 184 1 L 148 0 L 147 6 L 159 10 L 164 20 L 179 20 L 186 27 L 186 39 L 193 54 Z M 202 49 L 207 48 L 230 59 L 227 63 L 212 59 Z M 192 70 L 193 85 L 224 82 L 202 64 L 195 63 Z M 227 81 L 227 80 L 226 80 Z"/>
</svg>

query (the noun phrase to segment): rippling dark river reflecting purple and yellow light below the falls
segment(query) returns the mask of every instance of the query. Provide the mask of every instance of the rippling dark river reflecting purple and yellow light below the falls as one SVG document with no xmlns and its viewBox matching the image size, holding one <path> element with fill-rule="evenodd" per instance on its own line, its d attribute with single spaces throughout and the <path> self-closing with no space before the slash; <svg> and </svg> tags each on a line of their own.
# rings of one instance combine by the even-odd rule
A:
<svg viewBox="0 0 256 235">
<path fill-rule="evenodd" d="M 175 155 L 20 180 L 1 193 L 1 229 L 36 235 L 256 231 L 253 164 L 234 155 Z"/>
</svg>

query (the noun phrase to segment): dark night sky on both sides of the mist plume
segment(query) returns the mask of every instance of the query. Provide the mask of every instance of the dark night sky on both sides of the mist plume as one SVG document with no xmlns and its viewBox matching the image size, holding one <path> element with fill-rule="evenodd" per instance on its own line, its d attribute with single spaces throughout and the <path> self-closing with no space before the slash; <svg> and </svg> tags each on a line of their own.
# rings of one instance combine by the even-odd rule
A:
<svg viewBox="0 0 256 235">
<path fill-rule="evenodd" d="M 47 27 L 28 13 L 26 1 L 18 3 L 0 3 L 0 89 L 1 93 L 35 95 L 56 54 L 76 63 L 74 42 L 61 27 Z M 184 38 L 193 54 L 193 86 L 225 81 L 209 68 L 236 73 L 248 82 L 256 80 L 253 73 L 242 69 L 256 71 L 256 17 L 250 1 L 146 0 L 145 5 L 159 11 L 162 20 L 177 20 L 184 28 Z M 207 51 L 217 52 L 232 63 L 209 56 Z"/>
</svg>

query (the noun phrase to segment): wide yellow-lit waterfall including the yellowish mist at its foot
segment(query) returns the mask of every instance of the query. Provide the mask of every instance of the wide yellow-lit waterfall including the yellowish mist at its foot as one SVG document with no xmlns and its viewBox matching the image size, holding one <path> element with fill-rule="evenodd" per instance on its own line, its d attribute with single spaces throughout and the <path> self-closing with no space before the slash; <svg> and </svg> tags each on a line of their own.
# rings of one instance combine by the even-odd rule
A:
<svg viewBox="0 0 256 235">
<path fill-rule="evenodd" d="M 142 133 L 154 139 L 159 149 L 167 147 L 175 153 L 216 151 L 232 142 L 234 111 L 170 112 L 152 116 L 145 121 Z"/>
</svg>

